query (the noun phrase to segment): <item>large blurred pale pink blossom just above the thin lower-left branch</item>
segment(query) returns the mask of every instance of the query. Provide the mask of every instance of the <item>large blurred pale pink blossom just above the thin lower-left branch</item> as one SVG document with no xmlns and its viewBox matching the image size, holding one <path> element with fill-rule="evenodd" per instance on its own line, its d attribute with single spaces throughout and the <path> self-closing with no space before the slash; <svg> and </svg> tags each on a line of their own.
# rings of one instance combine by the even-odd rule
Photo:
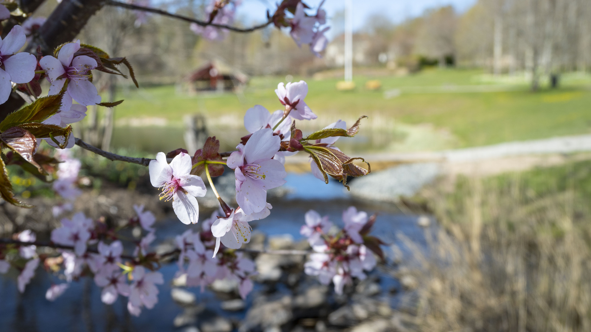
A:
<svg viewBox="0 0 591 332">
<path fill-rule="evenodd" d="M 86 252 L 86 242 L 90 239 L 89 229 L 92 219 L 79 212 L 70 219 L 61 219 L 61 227 L 51 231 L 51 240 L 60 245 L 74 246 L 74 252 L 82 256 Z"/>
</svg>

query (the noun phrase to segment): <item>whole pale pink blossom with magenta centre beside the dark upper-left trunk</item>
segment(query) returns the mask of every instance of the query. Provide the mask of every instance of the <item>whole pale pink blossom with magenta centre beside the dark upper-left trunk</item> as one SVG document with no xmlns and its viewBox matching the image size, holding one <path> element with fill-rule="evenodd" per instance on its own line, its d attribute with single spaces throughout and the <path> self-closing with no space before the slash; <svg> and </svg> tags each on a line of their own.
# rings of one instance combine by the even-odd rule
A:
<svg viewBox="0 0 591 332">
<path fill-rule="evenodd" d="M 100 103 L 100 96 L 96 87 L 89 81 L 90 70 L 97 66 L 96 60 L 88 56 L 77 56 L 74 53 L 80 49 L 80 41 L 64 44 L 57 58 L 44 56 L 39 61 L 41 67 L 46 71 L 47 79 L 51 83 L 50 95 L 60 93 L 66 79 L 70 80 L 67 87 L 67 96 L 64 96 L 64 103 L 71 103 L 74 99 L 84 106 Z"/>
</svg>

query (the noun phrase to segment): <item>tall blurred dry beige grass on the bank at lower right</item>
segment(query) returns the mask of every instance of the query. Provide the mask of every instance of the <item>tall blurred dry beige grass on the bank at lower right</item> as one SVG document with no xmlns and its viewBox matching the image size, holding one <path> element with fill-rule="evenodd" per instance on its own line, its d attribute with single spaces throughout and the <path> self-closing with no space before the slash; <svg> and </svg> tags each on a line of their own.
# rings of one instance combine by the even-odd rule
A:
<svg viewBox="0 0 591 332">
<path fill-rule="evenodd" d="M 440 227 L 426 230 L 428 249 L 402 237 L 413 259 L 400 271 L 419 285 L 401 308 L 408 328 L 591 331 L 591 214 L 580 178 L 590 169 L 554 168 L 544 190 L 539 170 L 429 190 Z"/>
</svg>

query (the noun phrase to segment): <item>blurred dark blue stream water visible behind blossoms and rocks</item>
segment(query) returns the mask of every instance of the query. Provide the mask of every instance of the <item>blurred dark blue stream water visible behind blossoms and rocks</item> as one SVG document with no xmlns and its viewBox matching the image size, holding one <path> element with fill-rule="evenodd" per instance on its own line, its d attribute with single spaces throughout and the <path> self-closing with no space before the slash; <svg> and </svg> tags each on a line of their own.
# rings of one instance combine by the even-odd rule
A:
<svg viewBox="0 0 591 332">
<path fill-rule="evenodd" d="M 262 232 L 267 236 L 290 235 L 297 242 L 302 239 L 300 227 L 304 223 L 304 213 L 314 209 L 322 215 L 329 215 L 333 223 L 341 223 L 341 214 L 346 207 L 355 205 L 358 210 L 368 214 L 378 213 L 372 232 L 388 244 L 397 243 L 396 233 L 426 246 L 423 229 L 417 225 L 417 216 L 401 214 L 393 204 L 373 204 L 353 201 L 339 183 L 326 185 L 311 174 L 290 174 L 286 187 L 290 189 L 287 197 L 271 201 L 274 209 L 267 219 L 252 222 L 254 232 Z M 304 190 L 306 188 L 306 190 Z M 202 211 L 200 220 L 209 217 L 212 211 Z M 154 244 L 169 240 L 182 233 L 187 227 L 200 229 L 200 224 L 186 226 L 176 217 L 157 223 L 157 240 Z M 383 248 L 389 252 L 387 246 Z M 35 278 L 27 286 L 24 294 L 16 287 L 16 271 L 11 269 L 7 275 L 0 275 L 0 330 L 7 332 L 53 332 L 53 331 L 178 331 L 173 327 L 174 318 L 183 312 L 171 298 L 170 281 L 177 271 L 176 264 L 168 264 L 160 270 L 167 281 L 159 287 L 159 302 L 152 310 L 144 310 L 140 317 L 132 317 L 126 310 L 126 299 L 119 298 L 113 305 L 105 305 L 100 301 L 100 288 L 92 279 L 82 278 L 72 282 L 70 288 L 55 302 L 45 299 L 45 292 L 52 283 L 64 281 L 50 276 L 42 268 L 37 269 Z M 401 287 L 389 273 L 375 269 L 372 275 L 379 275 L 381 296 L 395 306 L 401 297 Z M 246 299 L 246 309 L 241 311 L 224 311 L 220 308 L 219 295 L 206 289 L 189 288 L 196 295 L 197 305 L 204 305 L 204 314 L 221 315 L 233 320 L 242 320 L 252 301 L 261 292 L 268 291 L 265 284 L 255 283 L 254 291 Z M 276 292 L 283 292 L 281 284 L 275 286 Z M 395 289 L 394 292 L 391 292 Z M 223 295 L 222 295 L 223 297 Z M 228 300 L 224 298 L 223 300 Z M 203 315 L 203 313 L 202 313 Z"/>
</svg>

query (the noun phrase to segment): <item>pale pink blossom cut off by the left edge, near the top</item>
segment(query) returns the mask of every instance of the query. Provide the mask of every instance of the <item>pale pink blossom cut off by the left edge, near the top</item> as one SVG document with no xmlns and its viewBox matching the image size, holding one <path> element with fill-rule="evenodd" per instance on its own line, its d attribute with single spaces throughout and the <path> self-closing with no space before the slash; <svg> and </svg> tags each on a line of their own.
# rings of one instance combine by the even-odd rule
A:
<svg viewBox="0 0 591 332">
<path fill-rule="evenodd" d="M 5 14 L 6 7 L 0 5 L 0 19 Z M 8 10 L 8 9 L 6 9 Z M 0 104 L 8 100 L 12 92 L 12 84 L 28 83 L 35 77 L 37 58 L 31 53 L 17 53 L 25 44 L 27 37 L 20 25 L 15 25 L 4 40 L 0 40 Z"/>
</svg>

